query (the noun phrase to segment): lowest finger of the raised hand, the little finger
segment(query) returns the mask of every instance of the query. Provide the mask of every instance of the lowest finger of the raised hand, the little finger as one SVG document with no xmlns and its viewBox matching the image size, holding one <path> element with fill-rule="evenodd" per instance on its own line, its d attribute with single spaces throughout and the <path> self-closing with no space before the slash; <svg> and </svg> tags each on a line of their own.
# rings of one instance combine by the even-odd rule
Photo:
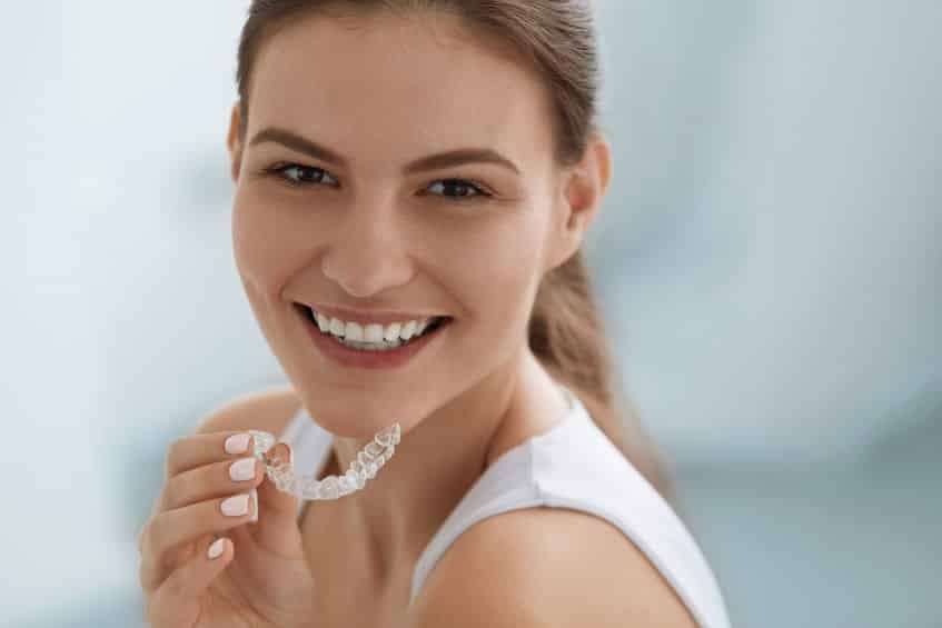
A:
<svg viewBox="0 0 942 628">
<path fill-rule="evenodd" d="M 199 616 L 200 598 L 232 561 L 234 550 L 226 537 L 202 540 L 196 555 L 175 569 L 148 599 L 148 622 L 157 628 L 192 626 Z"/>
</svg>

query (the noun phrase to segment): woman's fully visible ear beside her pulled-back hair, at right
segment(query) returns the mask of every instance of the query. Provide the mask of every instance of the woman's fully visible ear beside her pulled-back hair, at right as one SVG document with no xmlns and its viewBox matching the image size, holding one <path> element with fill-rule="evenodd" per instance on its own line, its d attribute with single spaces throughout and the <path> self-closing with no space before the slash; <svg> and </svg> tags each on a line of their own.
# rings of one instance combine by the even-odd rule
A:
<svg viewBox="0 0 942 628">
<path fill-rule="evenodd" d="M 595 133 L 582 160 L 563 175 L 546 270 L 563 265 L 579 249 L 588 226 L 602 207 L 611 179 L 611 148 L 605 138 Z"/>
</svg>

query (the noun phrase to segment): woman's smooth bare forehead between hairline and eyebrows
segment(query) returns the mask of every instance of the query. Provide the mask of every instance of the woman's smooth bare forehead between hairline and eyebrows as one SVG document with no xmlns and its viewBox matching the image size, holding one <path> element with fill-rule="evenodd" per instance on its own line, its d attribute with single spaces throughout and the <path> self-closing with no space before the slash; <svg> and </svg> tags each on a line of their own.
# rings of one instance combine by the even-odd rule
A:
<svg viewBox="0 0 942 628">
<path fill-rule="evenodd" d="M 488 147 L 525 169 L 552 144 L 544 90 L 508 49 L 452 16 L 316 16 L 262 46 L 248 136 L 276 124 L 377 168 Z"/>
</svg>

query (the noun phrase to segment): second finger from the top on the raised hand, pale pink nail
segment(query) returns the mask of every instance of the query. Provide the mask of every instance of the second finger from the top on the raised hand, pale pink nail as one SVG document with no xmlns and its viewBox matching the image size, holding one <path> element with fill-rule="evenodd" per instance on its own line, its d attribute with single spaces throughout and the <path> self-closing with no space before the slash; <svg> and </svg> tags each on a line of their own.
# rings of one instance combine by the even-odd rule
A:
<svg viewBox="0 0 942 628">
<path fill-rule="evenodd" d="M 254 456 L 211 462 L 184 471 L 163 482 L 158 511 L 225 497 L 235 490 L 250 490 L 261 482 L 264 476 L 265 465 Z"/>
</svg>

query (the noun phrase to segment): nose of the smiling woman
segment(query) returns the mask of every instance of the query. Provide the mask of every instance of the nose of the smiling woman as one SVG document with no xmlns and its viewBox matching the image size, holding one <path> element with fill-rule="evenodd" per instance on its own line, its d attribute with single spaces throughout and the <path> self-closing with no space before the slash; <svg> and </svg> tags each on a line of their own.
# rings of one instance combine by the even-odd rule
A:
<svg viewBox="0 0 942 628">
<path fill-rule="evenodd" d="M 325 277 L 360 298 L 411 279 L 413 265 L 391 207 L 348 206 L 339 221 L 321 258 Z"/>
</svg>

